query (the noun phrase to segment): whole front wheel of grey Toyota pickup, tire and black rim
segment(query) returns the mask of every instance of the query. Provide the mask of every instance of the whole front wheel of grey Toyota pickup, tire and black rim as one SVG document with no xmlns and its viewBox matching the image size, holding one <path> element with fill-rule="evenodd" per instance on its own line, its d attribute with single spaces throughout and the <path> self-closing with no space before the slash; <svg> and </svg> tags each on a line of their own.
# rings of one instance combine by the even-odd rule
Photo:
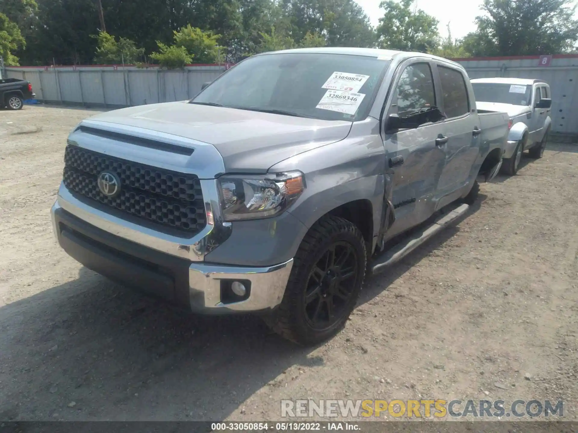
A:
<svg viewBox="0 0 578 433">
<path fill-rule="evenodd" d="M 364 238 L 353 223 L 337 216 L 321 219 L 303 238 L 283 300 L 265 322 L 301 345 L 332 337 L 357 303 L 366 256 Z"/>
</svg>

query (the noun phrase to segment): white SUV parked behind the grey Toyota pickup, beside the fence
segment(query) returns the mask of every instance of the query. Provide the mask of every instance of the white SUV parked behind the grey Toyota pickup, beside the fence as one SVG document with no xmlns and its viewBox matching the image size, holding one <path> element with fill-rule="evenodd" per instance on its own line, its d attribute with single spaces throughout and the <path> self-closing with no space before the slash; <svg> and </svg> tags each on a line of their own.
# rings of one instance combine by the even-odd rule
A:
<svg viewBox="0 0 578 433">
<path fill-rule="evenodd" d="M 552 124 L 550 86 L 541 80 L 520 78 L 470 81 L 478 113 L 505 111 L 510 116 L 502 173 L 516 174 L 525 150 L 531 158 L 542 158 Z"/>
</svg>

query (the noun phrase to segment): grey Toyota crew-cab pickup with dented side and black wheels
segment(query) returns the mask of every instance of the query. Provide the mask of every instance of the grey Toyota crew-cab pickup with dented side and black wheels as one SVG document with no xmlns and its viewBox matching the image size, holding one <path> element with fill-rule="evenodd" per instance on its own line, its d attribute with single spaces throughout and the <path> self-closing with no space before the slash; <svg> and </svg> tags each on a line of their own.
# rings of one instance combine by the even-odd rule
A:
<svg viewBox="0 0 578 433">
<path fill-rule="evenodd" d="M 501 166 L 507 123 L 477 114 L 446 59 L 255 55 L 192 100 L 81 122 L 54 232 L 111 279 L 194 312 L 259 312 L 315 344 L 346 322 L 366 270 L 464 214 Z"/>
</svg>

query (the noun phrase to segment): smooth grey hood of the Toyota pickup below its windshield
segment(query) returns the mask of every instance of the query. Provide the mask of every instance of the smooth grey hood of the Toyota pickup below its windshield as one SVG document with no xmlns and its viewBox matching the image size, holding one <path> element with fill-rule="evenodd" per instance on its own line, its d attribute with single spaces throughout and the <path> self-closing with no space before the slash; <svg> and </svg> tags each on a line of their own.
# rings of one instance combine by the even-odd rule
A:
<svg viewBox="0 0 578 433">
<path fill-rule="evenodd" d="M 351 122 L 190 104 L 108 111 L 90 120 L 135 126 L 212 144 L 229 173 L 263 173 L 281 160 L 343 140 Z"/>
</svg>

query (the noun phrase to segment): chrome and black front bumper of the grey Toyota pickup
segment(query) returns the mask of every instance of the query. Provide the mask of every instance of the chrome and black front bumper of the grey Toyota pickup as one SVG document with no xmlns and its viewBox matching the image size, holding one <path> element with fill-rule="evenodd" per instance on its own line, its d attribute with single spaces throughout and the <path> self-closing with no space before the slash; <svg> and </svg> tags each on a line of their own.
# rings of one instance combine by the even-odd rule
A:
<svg viewBox="0 0 578 433">
<path fill-rule="evenodd" d="M 62 214 L 62 211 L 64 211 L 65 214 Z M 60 216 L 57 216 L 57 213 Z M 62 238 L 62 229 L 59 226 L 62 224 L 62 215 L 66 215 L 66 218 L 71 219 L 71 221 L 77 221 L 79 227 L 84 227 L 84 232 L 79 233 L 84 235 L 84 239 L 90 238 L 94 240 L 93 244 L 95 245 L 92 245 L 91 251 L 86 250 L 86 253 L 84 252 L 84 247 L 81 245 L 83 242 L 74 244 L 74 234 L 70 233 L 74 233 L 75 230 L 81 230 L 77 229 L 77 227 L 72 227 L 72 232 L 66 232 L 68 233 L 64 235 L 66 239 Z M 132 225 L 132 223 L 125 222 L 124 220 L 116 221 L 117 218 L 112 215 L 88 207 L 86 204 L 75 199 L 64 186 L 61 186 L 58 199 L 51 209 L 51 219 L 57 241 L 62 248 L 65 248 L 65 246 L 68 247 L 68 249 L 65 248 L 65 250 L 69 255 L 78 262 L 83 263 L 84 266 L 127 286 L 131 286 L 134 273 L 131 274 L 124 270 L 119 271 L 118 268 L 116 271 L 113 271 L 110 265 L 110 251 L 113 251 L 112 255 L 114 255 L 114 251 L 118 251 L 117 263 L 121 263 L 123 257 L 127 257 L 127 255 L 141 261 L 143 260 L 143 256 L 147 257 L 146 260 L 149 260 L 151 266 L 144 266 L 142 269 L 143 274 L 150 272 L 151 268 L 155 268 L 155 266 L 161 262 L 174 261 L 177 263 L 175 267 L 181 267 L 181 269 L 183 266 L 187 266 L 188 269 L 184 268 L 182 270 L 183 273 L 187 272 L 188 274 L 188 284 L 179 284 L 177 283 L 179 278 L 174 277 L 173 283 L 168 286 L 169 289 L 166 289 L 166 291 L 175 291 L 177 293 L 175 298 L 179 304 L 188 304 L 183 306 L 198 313 L 223 314 L 243 311 L 264 311 L 275 308 L 283 299 L 293 265 L 293 259 L 285 263 L 266 267 L 229 266 L 199 262 L 199 260 L 203 260 L 203 255 L 198 253 L 194 255 L 188 254 L 190 251 L 198 251 L 197 249 L 179 248 L 179 245 L 186 245 L 182 239 L 178 238 L 180 241 L 179 244 L 173 244 L 171 239 L 166 235 L 157 237 L 152 230 L 138 225 Z M 98 236 L 91 236 L 93 232 L 97 233 Z M 206 233 L 202 233 L 204 233 L 205 237 L 200 239 L 194 238 L 194 242 L 191 241 L 191 244 L 188 245 L 194 246 L 199 245 L 199 243 L 206 245 L 206 238 L 211 232 L 208 230 Z M 103 234 L 112 235 L 112 237 L 117 240 L 120 239 L 121 243 L 119 245 L 121 245 L 123 241 L 124 244 L 126 244 L 126 241 L 129 241 L 129 243 L 134 246 L 127 248 L 126 246 L 118 247 L 116 244 L 103 244 L 101 240 Z M 197 235 L 197 237 L 198 236 L 200 236 L 200 234 Z M 108 254 L 106 260 L 109 260 L 109 262 L 103 262 L 104 259 L 99 257 L 99 247 L 102 247 L 102 251 L 106 251 L 106 253 L 102 255 L 105 256 Z M 153 256 L 158 257 L 159 255 L 161 255 L 162 260 L 157 260 L 157 262 L 148 258 Z M 137 262 L 136 266 L 143 265 L 139 265 Z M 110 272 L 114 272 L 114 274 L 107 274 L 109 268 Z M 135 273 L 138 274 L 138 267 L 135 269 Z M 166 280 L 165 275 L 160 275 L 159 278 L 160 281 Z M 162 280 L 162 278 L 165 280 Z M 242 301 L 224 303 L 221 299 L 221 282 L 223 282 L 223 280 L 248 282 L 249 296 Z M 135 288 L 138 289 L 138 287 Z M 164 289 L 160 287 L 146 291 L 153 291 L 161 297 L 168 297 L 164 296 L 164 293 L 162 293 L 163 290 Z"/>
</svg>

